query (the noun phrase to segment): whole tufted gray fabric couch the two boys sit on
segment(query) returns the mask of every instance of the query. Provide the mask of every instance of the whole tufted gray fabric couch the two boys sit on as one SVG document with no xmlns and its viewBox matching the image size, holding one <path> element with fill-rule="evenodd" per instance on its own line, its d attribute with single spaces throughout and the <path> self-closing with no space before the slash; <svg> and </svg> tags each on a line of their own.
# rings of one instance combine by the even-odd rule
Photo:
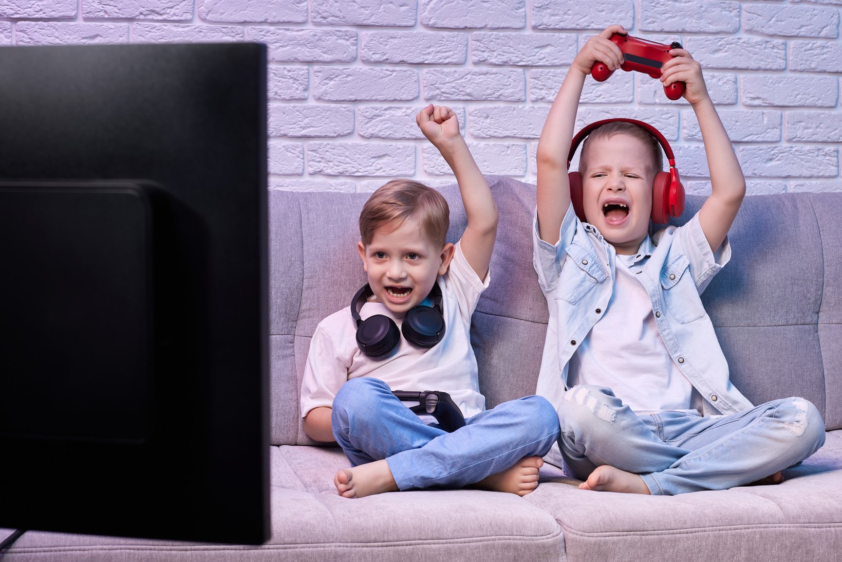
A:
<svg viewBox="0 0 842 562">
<path fill-rule="evenodd" d="M 534 393 L 546 303 L 531 265 L 535 187 L 489 178 L 500 210 L 492 282 L 473 318 L 488 406 Z M 455 186 L 450 239 L 465 227 Z M 272 191 L 272 538 L 259 547 L 25 533 L 3 560 L 831 560 L 842 552 L 842 194 L 751 196 L 733 260 L 704 294 L 733 383 L 754 403 L 802 396 L 825 446 L 776 486 L 674 497 L 578 490 L 546 465 L 530 495 L 481 490 L 339 497 L 340 450 L 301 428 L 298 391 L 318 321 L 364 282 L 365 194 Z M 701 205 L 688 197 L 682 220 Z M 0 531 L 0 538 L 8 531 Z"/>
</svg>

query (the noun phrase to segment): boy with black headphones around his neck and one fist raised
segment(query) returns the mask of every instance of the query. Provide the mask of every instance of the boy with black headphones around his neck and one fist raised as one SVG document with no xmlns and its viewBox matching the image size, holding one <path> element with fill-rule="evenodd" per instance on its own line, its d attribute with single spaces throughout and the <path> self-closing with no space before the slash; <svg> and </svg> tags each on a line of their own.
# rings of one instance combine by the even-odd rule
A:
<svg viewBox="0 0 842 562">
<path fill-rule="evenodd" d="M 313 335 L 301 383 L 304 430 L 343 448 L 351 468 L 333 481 L 347 498 L 467 484 L 525 495 L 538 485 L 558 419 L 539 396 L 486 410 L 479 393 L 471 317 L 488 286 L 497 207 L 453 111 L 428 105 L 416 122 L 456 175 L 467 227 L 456 244 L 446 242 L 447 202 L 412 180 L 370 196 L 358 244 L 368 284 Z M 397 390 L 449 393 L 465 426 L 428 425 Z"/>
</svg>

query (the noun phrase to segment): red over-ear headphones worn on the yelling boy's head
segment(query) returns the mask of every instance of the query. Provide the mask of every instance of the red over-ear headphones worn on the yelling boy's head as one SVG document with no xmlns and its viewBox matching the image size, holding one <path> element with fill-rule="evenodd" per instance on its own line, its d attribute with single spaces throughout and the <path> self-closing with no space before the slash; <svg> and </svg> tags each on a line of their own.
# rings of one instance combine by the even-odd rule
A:
<svg viewBox="0 0 842 562">
<path fill-rule="evenodd" d="M 681 185 L 679 179 L 679 171 L 675 168 L 675 156 L 673 149 L 669 147 L 667 139 L 658 130 L 643 121 L 635 119 L 604 119 L 596 121 L 586 126 L 582 131 L 578 131 L 573 137 L 573 142 L 570 143 L 570 153 L 568 154 L 568 170 L 570 169 L 570 161 L 573 160 L 573 154 L 579 144 L 584 141 L 584 137 L 588 136 L 594 129 L 611 123 L 612 121 L 625 121 L 632 123 L 649 131 L 652 136 L 658 141 L 663 148 L 663 152 L 667 154 L 669 160 L 669 172 L 658 172 L 655 175 L 655 181 L 652 184 L 652 222 L 657 224 L 666 224 L 669 222 L 669 217 L 680 217 L 684 212 L 684 185 Z M 570 201 L 573 201 L 573 210 L 576 211 L 576 216 L 580 221 L 585 221 L 584 217 L 584 201 L 582 200 L 582 176 L 578 172 L 569 172 L 570 178 Z"/>
</svg>

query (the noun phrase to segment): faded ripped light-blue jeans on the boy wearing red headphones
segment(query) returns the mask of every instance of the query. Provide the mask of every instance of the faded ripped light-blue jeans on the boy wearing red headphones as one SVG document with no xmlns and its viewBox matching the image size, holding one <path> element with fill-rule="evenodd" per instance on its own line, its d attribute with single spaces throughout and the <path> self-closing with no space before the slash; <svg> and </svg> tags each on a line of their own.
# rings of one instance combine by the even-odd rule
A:
<svg viewBox="0 0 842 562">
<path fill-rule="evenodd" d="M 610 388 L 580 385 L 558 407 L 564 470 L 587 479 L 608 464 L 640 474 L 653 495 L 725 490 L 800 463 L 824 444 L 824 422 L 802 398 L 733 415 L 636 415 Z"/>
</svg>

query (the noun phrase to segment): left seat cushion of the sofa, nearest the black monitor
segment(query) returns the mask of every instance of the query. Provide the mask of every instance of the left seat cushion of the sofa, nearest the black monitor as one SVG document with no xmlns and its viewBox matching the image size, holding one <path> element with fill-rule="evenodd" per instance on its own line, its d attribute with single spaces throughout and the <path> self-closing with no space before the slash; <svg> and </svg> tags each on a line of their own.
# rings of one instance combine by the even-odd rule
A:
<svg viewBox="0 0 842 562">
<path fill-rule="evenodd" d="M 29 531 L 3 561 L 563 559 L 556 519 L 517 495 L 425 490 L 349 500 L 333 486 L 347 467 L 336 447 L 272 447 L 272 537 L 262 546 Z M 0 539 L 8 534 L 0 530 Z"/>
</svg>

